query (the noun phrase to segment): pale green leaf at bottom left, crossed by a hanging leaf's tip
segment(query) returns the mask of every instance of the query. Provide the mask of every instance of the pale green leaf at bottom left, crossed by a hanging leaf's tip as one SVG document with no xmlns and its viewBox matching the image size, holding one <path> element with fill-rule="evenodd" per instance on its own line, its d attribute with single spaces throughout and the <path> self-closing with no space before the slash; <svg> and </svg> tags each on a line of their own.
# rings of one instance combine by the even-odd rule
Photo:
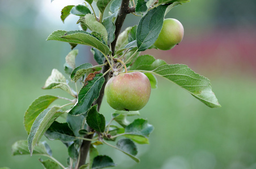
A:
<svg viewBox="0 0 256 169">
<path fill-rule="evenodd" d="M 27 140 L 16 141 L 14 144 L 12 144 L 11 150 L 12 150 L 12 155 L 28 155 L 28 154 L 30 154 L 29 150 L 28 150 L 28 141 Z M 37 144 L 37 146 L 35 146 L 33 154 L 51 155 L 48 153 L 48 150 L 45 148 L 45 144 L 43 144 L 42 142 L 39 142 L 39 144 Z"/>
</svg>

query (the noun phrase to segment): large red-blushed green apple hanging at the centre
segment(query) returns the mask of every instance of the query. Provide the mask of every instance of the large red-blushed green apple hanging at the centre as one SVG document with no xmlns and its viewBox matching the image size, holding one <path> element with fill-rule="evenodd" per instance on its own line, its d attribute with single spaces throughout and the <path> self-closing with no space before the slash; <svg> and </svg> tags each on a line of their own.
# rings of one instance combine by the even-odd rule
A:
<svg viewBox="0 0 256 169">
<path fill-rule="evenodd" d="M 150 99 L 150 93 L 150 80 L 141 72 L 119 74 L 105 86 L 106 101 L 116 110 L 140 110 Z"/>
</svg>

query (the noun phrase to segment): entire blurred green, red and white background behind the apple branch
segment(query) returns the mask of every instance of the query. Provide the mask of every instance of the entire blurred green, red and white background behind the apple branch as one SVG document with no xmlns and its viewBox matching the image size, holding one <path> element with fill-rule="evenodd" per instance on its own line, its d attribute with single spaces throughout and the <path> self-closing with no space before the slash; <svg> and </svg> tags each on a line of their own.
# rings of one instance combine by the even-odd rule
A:
<svg viewBox="0 0 256 169">
<path fill-rule="evenodd" d="M 27 139 L 23 115 L 34 99 L 45 94 L 67 96 L 59 89 L 41 89 L 53 68 L 64 73 L 70 51 L 66 43 L 45 39 L 54 30 L 78 29 L 77 17 L 69 16 L 63 24 L 59 15 L 64 6 L 82 2 L 0 1 L 0 167 L 42 168 L 36 155 L 13 157 L 11 145 Z M 155 127 L 150 145 L 138 145 L 141 162 L 105 146 L 100 152 L 113 158 L 115 168 L 256 168 L 256 1 L 191 0 L 167 17 L 184 25 L 183 41 L 170 51 L 144 53 L 169 64 L 186 64 L 209 78 L 222 108 L 208 108 L 159 78 L 159 87 L 140 111 Z M 124 26 L 137 23 L 131 15 Z M 76 48 L 77 65 L 95 64 L 88 47 Z M 100 113 L 108 121 L 113 112 L 104 100 Z M 65 164 L 65 146 L 48 143 Z"/>
</svg>

